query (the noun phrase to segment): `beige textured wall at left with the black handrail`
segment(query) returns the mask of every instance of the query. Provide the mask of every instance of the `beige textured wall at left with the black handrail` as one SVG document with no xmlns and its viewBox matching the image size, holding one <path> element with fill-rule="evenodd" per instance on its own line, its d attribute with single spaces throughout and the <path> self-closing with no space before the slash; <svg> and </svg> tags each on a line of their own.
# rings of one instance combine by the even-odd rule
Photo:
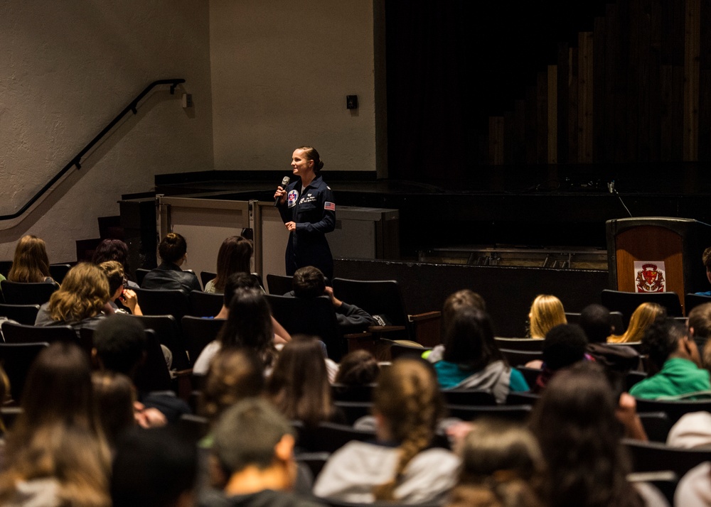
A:
<svg viewBox="0 0 711 507">
<path fill-rule="evenodd" d="M 144 99 L 80 171 L 23 219 L 0 222 L 0 259 L 28 232 L 50 261 L 75 260 L 124 193 L 154 175 L 213 166 L 209 4 L 189 0 L 0 2 L 0 214 L 21 207 L 147 84 L 183 77 Z M 193 109 L 181 108 L 181 92 Z"/>
</svg>

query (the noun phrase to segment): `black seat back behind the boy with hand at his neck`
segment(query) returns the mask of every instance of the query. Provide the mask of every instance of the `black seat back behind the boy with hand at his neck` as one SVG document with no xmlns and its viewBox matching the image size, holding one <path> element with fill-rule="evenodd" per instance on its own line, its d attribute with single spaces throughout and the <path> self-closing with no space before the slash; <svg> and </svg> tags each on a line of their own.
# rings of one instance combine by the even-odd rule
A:
<svg viewBox="0 0 711 507">
<path fill-rule="evenodd" d="M 336 310 L 328 296 L 306 299 L 267 294 L 266 298 L 272 315 L 289 334 L 319 337 L 326 344 L 328 357 L 336 362 L 341 361 L 341 357 L 346 354 L 347 343 L 338 327 Z"/>
</svg>

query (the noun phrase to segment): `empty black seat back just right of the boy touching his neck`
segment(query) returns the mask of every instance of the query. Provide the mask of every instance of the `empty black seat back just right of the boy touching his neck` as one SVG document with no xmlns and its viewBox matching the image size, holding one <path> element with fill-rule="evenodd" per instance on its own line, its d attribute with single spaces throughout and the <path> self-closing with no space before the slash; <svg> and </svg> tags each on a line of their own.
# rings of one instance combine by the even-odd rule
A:
<svg viewBox="0 0 711 507">
<path fill-rule="evenodd" d="M 348 280 L 333 278 L 333 294 L 349 305 L 383 317 L 386 325 L 410 328 L 400 285 L 396 280 Z"/>
</svg>

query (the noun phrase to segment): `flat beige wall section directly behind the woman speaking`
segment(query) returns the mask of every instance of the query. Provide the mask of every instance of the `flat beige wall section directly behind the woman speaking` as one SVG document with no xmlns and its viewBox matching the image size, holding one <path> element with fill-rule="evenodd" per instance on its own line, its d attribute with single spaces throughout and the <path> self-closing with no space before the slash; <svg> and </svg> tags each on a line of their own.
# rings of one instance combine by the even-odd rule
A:
<svg viewBox="0 0 711 507">
<path fill-rule="evenodd" d="M 376 170 L 373 38 L 373 0 L 210 0 L 215 168 L 288 171 L 306 144 Z"/>
</svg>

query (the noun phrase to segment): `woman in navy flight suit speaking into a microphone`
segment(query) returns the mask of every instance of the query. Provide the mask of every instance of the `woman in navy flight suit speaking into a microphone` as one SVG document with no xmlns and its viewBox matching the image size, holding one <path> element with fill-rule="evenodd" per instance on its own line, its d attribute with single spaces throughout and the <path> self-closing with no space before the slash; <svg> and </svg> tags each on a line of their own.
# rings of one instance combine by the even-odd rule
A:
<svg viewBox="0 0 711 507">
<path fill-rule="evenodd" d="M 319 152 L 311 146 L 296 148 L 292 154 L 292 168 L 296 180 L 284 189 L 277 187 L 279 213 L 289 231 L 286 266 L 287 275 L 304 266 L 319 268 L 331 280 L 333 256 L 328 248 L 326 233 L 336 227 L 336 204 L 333 192 L 321 178 Z"/>
</svg>

